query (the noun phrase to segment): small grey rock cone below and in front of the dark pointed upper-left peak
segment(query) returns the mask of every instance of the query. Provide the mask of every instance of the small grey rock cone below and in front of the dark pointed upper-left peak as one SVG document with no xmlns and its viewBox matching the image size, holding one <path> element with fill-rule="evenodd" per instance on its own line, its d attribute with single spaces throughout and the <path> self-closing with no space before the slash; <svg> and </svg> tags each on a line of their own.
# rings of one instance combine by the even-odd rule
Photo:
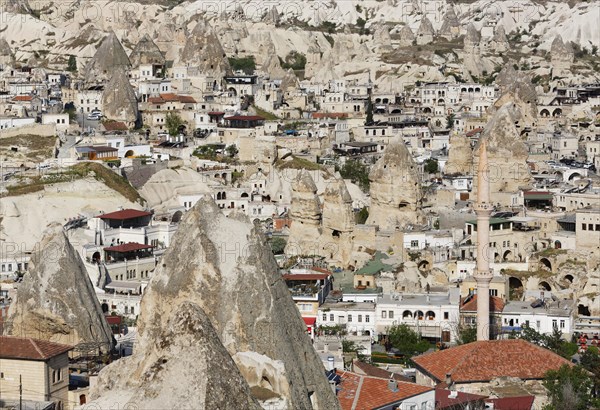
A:
<svg viewBox="0 0 600 410">
<path fill-rule="evenodd" d="M 122 69 L 112 72 L 113 76 L 102 92 L 102 112 L 109 120 L 135 126 L 139 117 L 138 103 L 129 77 Z"/>
</svg>

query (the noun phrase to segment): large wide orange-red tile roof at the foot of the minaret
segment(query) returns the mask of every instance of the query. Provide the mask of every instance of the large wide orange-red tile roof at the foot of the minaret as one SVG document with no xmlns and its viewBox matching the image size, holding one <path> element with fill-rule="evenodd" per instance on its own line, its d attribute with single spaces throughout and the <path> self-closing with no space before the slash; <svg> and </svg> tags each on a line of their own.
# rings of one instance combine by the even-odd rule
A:
<svg viewBox="0 0 600 410">
<path fill-rule="evenodd" d="M 572 366 L 550 350 L 520 339 L 468 343 L 414 357 L 413 362 L 438 382 L 449 374 L 454 383 L 486 382 L 497 377 L 543 379 L 548 370 Z"/>
</svg>

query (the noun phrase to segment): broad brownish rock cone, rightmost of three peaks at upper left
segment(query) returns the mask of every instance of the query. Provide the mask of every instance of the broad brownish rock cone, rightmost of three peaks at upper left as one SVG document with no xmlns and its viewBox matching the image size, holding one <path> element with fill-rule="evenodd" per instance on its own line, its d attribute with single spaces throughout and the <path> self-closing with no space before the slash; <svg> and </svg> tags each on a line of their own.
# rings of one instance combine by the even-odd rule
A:
<svg viewBox="0 0 600 410">
<path fill-rule="evenodd" d="M 204 19 L 198 21 L 188 37 L 180 63 L 208 76 L 220 77 L 231 71 L 219 37 Z"/>
</svg>

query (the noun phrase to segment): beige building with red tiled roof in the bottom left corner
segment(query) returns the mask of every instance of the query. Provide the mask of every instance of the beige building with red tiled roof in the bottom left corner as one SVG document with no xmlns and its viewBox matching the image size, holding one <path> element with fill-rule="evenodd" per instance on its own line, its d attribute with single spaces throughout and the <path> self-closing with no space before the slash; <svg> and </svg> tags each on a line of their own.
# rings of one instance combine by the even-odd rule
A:
<svg viewBox="0 0 600 410">
<path fill-rule="evenodd" d="M 0 336 L 0 405 L 22 399 L 67 406 L 69 356 L 73 347 L 31 338 Z M 42 407 L 43 408 L 43 407 Z"/>
</svg>

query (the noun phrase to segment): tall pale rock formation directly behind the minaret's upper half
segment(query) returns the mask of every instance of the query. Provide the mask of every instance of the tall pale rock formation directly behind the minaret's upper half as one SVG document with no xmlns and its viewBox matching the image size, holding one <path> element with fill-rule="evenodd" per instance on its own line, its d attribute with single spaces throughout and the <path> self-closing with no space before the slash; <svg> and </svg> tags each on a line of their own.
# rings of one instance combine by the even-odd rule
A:
<svg viewBox="0 0 600 410">
<path fill-rule="evenodd" d="M 518 117 L 518 107 L 512 103 L 503 105 L 485 126 L 481 137 L 487 142 L 490 195 L 494 203 L 506 206 L 510 205 L 512 193 L 531 184 L 528 149 L 515 127 Z M 474 156 L 473 169 L 477 169 L 479 145 Z M 476 195 L 477 175 L 473 179 L 473 195 Z"/>
</svg>

